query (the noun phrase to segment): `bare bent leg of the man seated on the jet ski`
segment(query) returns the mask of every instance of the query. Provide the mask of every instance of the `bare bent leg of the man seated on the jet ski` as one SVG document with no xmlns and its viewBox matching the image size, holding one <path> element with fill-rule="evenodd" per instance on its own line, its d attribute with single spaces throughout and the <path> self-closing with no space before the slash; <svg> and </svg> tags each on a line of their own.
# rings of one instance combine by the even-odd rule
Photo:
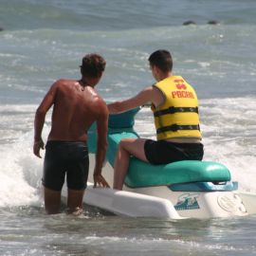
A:
<svg viewBox="0 0 256 256">
<path fill-rule="evenodd" d="M 125 175 L 129 167 L 130 155 L 134 155 L 138 159 L 148 162 L 144 152 L 145 141 L 145 138 L 123 138 L 119 142 L 119 150 L 114 166 L 113 189 L 122 190 Z"/>
</svg>

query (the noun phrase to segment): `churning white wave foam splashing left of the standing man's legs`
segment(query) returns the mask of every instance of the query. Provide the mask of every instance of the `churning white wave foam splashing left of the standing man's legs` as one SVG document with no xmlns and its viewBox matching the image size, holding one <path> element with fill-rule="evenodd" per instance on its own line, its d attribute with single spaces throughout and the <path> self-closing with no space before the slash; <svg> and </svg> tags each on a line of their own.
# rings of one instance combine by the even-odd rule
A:
<svg viewBox="0 0 256 256">
<path fill-rule="evenodd" d="M 0 207 L 40 204 L 39 162 L 32 158 L 27 138 L 1 148 Z"/>
</svg>

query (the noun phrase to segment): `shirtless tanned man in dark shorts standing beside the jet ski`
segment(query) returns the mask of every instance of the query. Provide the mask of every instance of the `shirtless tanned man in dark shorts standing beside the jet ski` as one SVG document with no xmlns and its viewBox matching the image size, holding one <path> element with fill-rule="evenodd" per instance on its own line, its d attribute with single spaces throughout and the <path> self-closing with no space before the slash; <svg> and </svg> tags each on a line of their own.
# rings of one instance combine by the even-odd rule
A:
<svg viewBox="0 0 256 256">
<path fill-rule="evenodd" d="M 89 168 L 87 131 L 94 121 L 97 122 L 98 131 L 94 186 L 109 187 L 101 175 L 107 148 L 108 109 L 94 89 L 101 80 L 105 64 L 98 54 L 84 56 L 81 65 L 82 79 L 54 82 L 36 111 L 33 152 L 41 158 L 40 149 L 44 149 L 42 130 L 46 113 L 53 105 L 42 179 L 48 214 L 60 212 L 65 174 L 68 211 L 82 211 L 82 197 Z"/>
</svg>

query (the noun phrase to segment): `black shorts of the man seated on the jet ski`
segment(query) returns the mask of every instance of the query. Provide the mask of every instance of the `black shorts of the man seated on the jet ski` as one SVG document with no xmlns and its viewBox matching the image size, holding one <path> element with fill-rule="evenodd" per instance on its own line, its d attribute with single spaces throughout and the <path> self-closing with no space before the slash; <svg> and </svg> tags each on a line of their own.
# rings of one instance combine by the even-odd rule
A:
<svg viewBox="0 0 256 256">
<path fill-rule="evenodd" d="M 147 139 L 144 145 L 145 155 L 151 164 L 168 164 L 182 160 L 202 160 L 202 143 L 174 143 L 166 140 Z"/>
</svg>

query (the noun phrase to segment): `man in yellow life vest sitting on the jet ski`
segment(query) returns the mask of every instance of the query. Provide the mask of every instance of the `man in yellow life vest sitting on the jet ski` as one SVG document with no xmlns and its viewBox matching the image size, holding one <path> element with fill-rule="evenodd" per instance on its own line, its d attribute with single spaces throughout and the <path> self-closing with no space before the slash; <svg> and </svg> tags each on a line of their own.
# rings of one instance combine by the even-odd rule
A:
<svg viewBox="0 0 256 256">
<path fill-rule="evenodd" d="M 204 146 L 199 126 L 198 101 L 192 86 L 173 75 L 169 51 L 156 50 L 149 58 L 155 84 L 137 96 L 108 104 L 110 114 L 133 109 L 151 102 L 156 138 L 123 138 L 115 162 L 114 189 L 122 190 L 130 155 L 151 164 L 181 160 L 202 160 Z"/>
</svg>

